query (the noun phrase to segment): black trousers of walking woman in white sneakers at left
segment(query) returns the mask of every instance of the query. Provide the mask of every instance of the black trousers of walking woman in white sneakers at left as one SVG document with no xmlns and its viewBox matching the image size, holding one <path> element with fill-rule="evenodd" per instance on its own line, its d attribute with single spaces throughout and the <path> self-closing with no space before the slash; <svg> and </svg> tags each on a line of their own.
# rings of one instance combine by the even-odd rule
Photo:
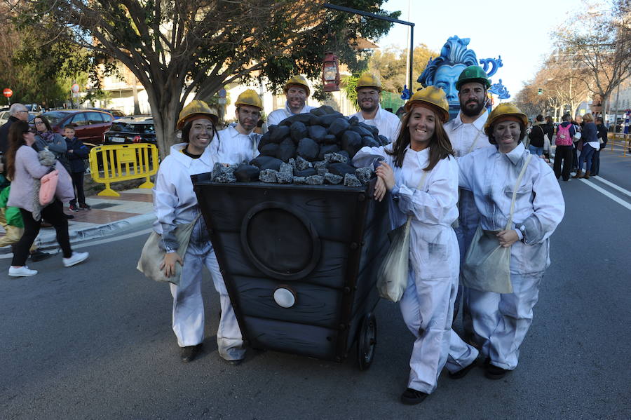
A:
<svg viewBox="0 0 631 420">
<path fill-rule="evenodd" d="M 24 233 L 20 241 L 15 244 L 13 251 L 12 266 L 23 266 L 26 264 L 26 260 L 29 257 L 29 248 L 35 242 L 35 238 L 39 233 L 41 222 L 33 219 L 32 212 L 20 208 L 22 213 L 22 220 L 24 221 Z M 68 233 L 68 220 L 64 216 L 64 207 L 61 201 L 55 200 L 45 208 L 41 209 L 41 217 L 46 222 L 53 225 L 55 232 L 57 233 L 57 243 L 62 249 L 64 258 L 72 256 L 72 248 L 70 248 L 70 235 Z"/>
</svg>

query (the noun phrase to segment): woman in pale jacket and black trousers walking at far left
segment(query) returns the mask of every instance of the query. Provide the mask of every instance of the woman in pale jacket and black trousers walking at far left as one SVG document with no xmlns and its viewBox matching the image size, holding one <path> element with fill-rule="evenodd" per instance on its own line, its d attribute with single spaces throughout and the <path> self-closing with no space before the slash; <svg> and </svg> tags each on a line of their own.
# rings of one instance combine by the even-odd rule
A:
<svg viewBox="0 0 631 420">
<path fill-rule="evenodd" d="M 9 276 L 24 277 L 34 276 L 36 270 L 29 269 L 25 263 L 29 248 L 33 245 L 40 229 L 40 222 L 34 219 L 34 194 L 36 191 L 35 179 L 46 175 L 50 168 L 39 163 L 37 152 L 33 149 L 35 132 L 24 121 L 13 123 L 9 129 L 8 152 L 6 154 L 6 174 L 11 179 L 12 189 L 9 193 L 7 205 L 17 207 L 22 214 L 24 222 L 24 234 L 15 244 Z M 61 165 L 57 163 L 57 165 Z M 61 168 L 61 166 L 59 166 Z M 67 196 L 70 191 L 60 191 L 60 195 Z M 41 215 L 53 224 L 57 233 L 57 243 L 63 252 L 65 266 L 74 266 L 88 258 L 88 252 L 73 252 L 70 247 L 68 233 L 68 221 L 64 217 L 63 205 L 55 198 L 53 203 L 41 209 Z"/>
</svg>

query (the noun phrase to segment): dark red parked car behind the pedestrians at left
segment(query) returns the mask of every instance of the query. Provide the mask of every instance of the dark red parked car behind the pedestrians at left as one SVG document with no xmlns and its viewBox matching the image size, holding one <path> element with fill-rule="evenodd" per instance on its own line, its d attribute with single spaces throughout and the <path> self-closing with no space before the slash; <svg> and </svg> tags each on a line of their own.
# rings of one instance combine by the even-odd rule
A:
<svg viewBox="0 0 631 420">
<path fill-rule="evenodd" d="M 41 114 L 50 121 L 55 133 L 64 133 L 64 126 L 74 124 L 76 137 L 88 146 L 102 144 L 104 133 L 111 127 L 114 117 L 108 112 L 92 109 L 64 109 Z"/>
</svg>

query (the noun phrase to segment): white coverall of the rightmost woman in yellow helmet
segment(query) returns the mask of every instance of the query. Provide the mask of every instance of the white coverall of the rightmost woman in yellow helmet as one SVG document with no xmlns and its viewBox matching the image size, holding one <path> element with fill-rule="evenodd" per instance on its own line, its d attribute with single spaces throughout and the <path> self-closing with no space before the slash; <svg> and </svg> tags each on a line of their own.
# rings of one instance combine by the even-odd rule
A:
<svg viewBox="0 0 631 420">
<path fill-rule="evenodd" d="M 508 154 L 485 147 L 459 159 L 460 187 L 473 191 L 480 211 L 480 226 L 503 230 L 517 177 L 529 152 L 522 143 Z M 520 241 L 510 248 L 513 293 L 499 294 L 469 288 L 474 339 L 491 364 L 506 370 L 517 367 L 520 346 L 532 323 L 539 283 L 550 265 L 552 232 L 565 212 L 563 195 L 554 172 L 534 156 L 515 200 L 513 222 Z"/>
</svg>

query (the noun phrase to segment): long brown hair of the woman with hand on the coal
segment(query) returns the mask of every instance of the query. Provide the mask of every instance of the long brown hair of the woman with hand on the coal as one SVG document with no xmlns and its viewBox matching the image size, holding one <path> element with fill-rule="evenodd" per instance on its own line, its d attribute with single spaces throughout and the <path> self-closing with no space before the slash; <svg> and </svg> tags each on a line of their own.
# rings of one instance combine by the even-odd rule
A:
<svg viewBox="0 0 631 420">
<path fill-rule="evenodd" d="M 428 108 L 431 109 L 431 108 Z M 390 156 L 395 156 L 395 166 L 401 168 L 403 166 L 403 158 L 405 157 L 405 148 L 409 145 L 409 118 L 412 116 L 413 109 L 410 109 L 401 120 L 401 130 L 393 144 L 392 151 L 386 150 L 386 153 Z M 434 113 L 434 121 L 436 121 L 434 134 L 430 138 L 429 142 L 429 163 L 423 170 L 432 170 L 434 166 L 441 160 L 449 155 L 454 154 L 452 148 L 452 142 L 449 141 L 449 136 L 445 133 L 445 128 L 442 128 L 442 121 L 438 117 L 438 114 L 431 109 Z"/>
</svg>

